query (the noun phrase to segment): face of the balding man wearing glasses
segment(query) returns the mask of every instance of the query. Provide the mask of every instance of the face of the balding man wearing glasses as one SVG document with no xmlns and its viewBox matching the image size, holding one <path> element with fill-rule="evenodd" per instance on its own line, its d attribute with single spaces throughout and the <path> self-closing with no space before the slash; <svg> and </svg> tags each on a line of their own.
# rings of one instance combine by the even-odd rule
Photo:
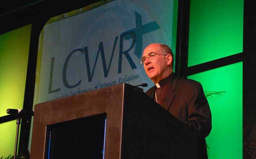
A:
<svg viewBox="0 0 256 159">
<path fill-rule="evenodd" d="M 143 57 L 148 57 L 149 54 L 166 54 L 162 52 L 161 46 L 159 44 L 150 44 L 143 51 Z M 171 56 L 171 55 L 170 55 Z M 144 69 L 148 77 L 154 82 L 158 83 L 162 79 L 169 76 L 172 72 L 170 72 L 170 68 L 168 67 L 168 57 L 164 55 L 155 55 L 155 57 L 151 60 L 146 58 L 144 61 Z M 170 65 L 170 64 L 169 64 Z"/>
</svg>

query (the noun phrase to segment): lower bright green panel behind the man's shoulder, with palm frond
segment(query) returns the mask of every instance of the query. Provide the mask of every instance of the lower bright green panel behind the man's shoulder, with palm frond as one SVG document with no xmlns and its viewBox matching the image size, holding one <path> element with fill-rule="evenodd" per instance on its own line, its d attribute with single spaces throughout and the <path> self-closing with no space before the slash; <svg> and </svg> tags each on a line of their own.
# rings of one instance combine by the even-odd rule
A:
<svg viewBox="0 0 256 159">
<path fill-rule="evenodd" d="M 241 159 L 243 151 L 242 62 L 191 75 L 203 90 L 226 91 L 223 96 L 208 98 L 212 130 L 206 137 L 210 159 Z"/>
</svg>

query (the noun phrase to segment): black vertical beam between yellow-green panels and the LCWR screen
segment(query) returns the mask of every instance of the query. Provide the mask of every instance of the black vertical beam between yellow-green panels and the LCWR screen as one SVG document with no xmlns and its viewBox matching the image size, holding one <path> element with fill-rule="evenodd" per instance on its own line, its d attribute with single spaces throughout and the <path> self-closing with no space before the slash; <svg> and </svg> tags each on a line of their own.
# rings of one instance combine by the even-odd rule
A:
<svg viewBox="0 0 256 159">
<path fill-rule="evenodd" d="M 32 24 L 27 78 L 26 78 L 25 95 L 24 95 L 24 103 L 23 103 L 24 110 L 33 109 L 39 35 L 42 28 L 44 27 L 45 23 L 48 20 L 49 19 L 45 19 L 45 20 L 40 19 L 38 22 L 36 21 Z M 21 130 L 20 130 L 18 154 L 24 154 L 26 158 L 30 157 L 30 154 L 28 151 L 28 145 L 29 145 L 31 118 L 32 118 L 31 116 L 24 116 L 21 119 Z"/>
</svg>

